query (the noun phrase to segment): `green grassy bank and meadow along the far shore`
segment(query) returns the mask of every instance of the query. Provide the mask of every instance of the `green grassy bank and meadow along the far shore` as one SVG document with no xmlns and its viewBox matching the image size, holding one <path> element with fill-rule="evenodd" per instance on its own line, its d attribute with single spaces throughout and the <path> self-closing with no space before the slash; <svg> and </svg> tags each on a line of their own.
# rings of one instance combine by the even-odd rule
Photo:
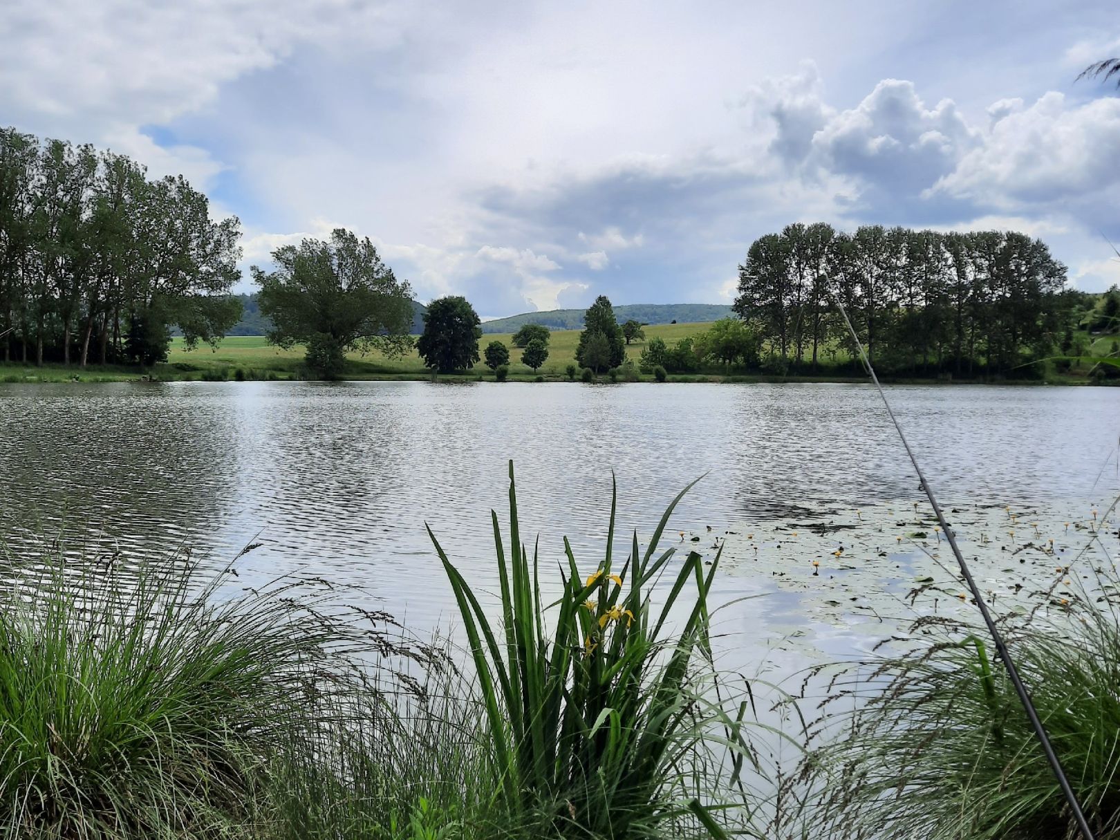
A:
<svg viewBox="0 0 1120 840">
<path fill-rule="evenodd" d="M 642 351 L 652 338 L 661 338 L 668 345 L 673 345 L 682 338 L 689 338 L 708 329 L 708 323 L 697 324 L 663 324 L 646 326 L 645 339 L 633 342 L 626 345 L 626 357 L 633 361 L 636 366 Z M 580 330 L 564 329 L 553 330 L 549 342 L 549 357 L 545 363 L 534 373 L 521 361 L 521 348 L 513 346 L 512 334 L 488 334 L 479 339 L 479 352 L 484 351 L 489 342 L 502 342 L 510 348 L 510 381 L 532 382 L 538 376 L 544 381 L 568 381 L 566 367 L 576 363 L 576 346 L 579 343 Z M 1090 356 L 1101 357 L 1111 352 L 1114 340 L 1120 338 L 1120 334 L 1091 336 L 1085 332 L 1077 334 L 1084 339 L 1086 353 Z M 91 365 L 78 367 L 77 365 L 45 364 L 36 367 L 31 364 L 20 362 L 0 363 L 0 382 L 128 382 L 137 380 L 158 381 L 190 381 L 190 380 L 297 380 L 304 379 L 304 354 L 305 348 L 300 345 L 283 349 L 268 343 L 264 336 L 226 336 L 217 347 L 200 344 L 195 349 L 188 351 L 181 338 L 171 342 L 170 354 L 166 363 L 153 365 L 150 368 L 140 368 L 128 365 Z M 838 370 L 839 366 L 839 370 Z M 1047 384 L 1088 384 L 1090 364 L 1075 364 L 1068 371 L 1058 371 L 1057 366 L 1049 362 L 1046 366 L 1044 379 L 1024 375 L 1021 379 L 955 379 L 958 382 L 1004 382 L 1004 383 L 1039 383 Z M 241 375 L 237 375 L 241 371 Z M 346 380 L 413 380 L 424 381 L 431 379 L 431 371 L 424 367 L 422 360 L 412 351 L 400 358 L 388 358 L 380 353 L 371 353 L 365 356 L 352 353 L 347 357 L 347 370 L 343 379 Z M 650 374 L 637 373 L 640 381 L 654 381 Z M 476 381 L 482 379 L 494 379 L 494 372 L 479 361 L 467 372 L 456 374 L 440 374 L 440 380 L 447 381 Z M 884 381 L 889 382 L 946 382 L 948 379 L 928 379 L 911 376 L 881 375 Z M 603 377 L 606 379 L 606 377 Z M 670 382 L 851 382 L 862 381 L 862 371 L 850 366 L 850 358 L 843 351 L 834 355 L 822 353 L 820 370 L 815 373 L 804 371 L 799 374 L 781 375 L 776 373 L 763 373 L 758 371 L 744 371 L 735 367 L 722 371 L 717 367 L 708 367 L 697 373 L 669 374 Z M 619 381 L 623 381 L 619 377 Z"/>
</svg>

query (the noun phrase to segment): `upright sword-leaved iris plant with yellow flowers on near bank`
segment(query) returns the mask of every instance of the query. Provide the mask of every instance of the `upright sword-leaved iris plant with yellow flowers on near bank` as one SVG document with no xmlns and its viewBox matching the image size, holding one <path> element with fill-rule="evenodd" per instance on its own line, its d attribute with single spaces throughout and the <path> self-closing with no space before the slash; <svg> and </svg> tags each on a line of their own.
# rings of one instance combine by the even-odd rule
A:
<svg viewBox="0 0 1120 840">
<path fill-rule="evenodd" d="M 704 709 L 689 673 L 708 655 L 706 601 L 719 563 L 717 556 L 706 575 L 700 554 L 690 552 L 654 607 L 652 584 L 674 553 L 657 554 L 657 542 L 682 495 L 644 552 L 635 533 L 618 568 L 612 554 L 614 502 L 601 561 L 580 569 L 566 540 L 562 592 L 550 620 L 542 615 L 536 553 L 530 558 L 519 530 L 512 463 L 508 552 L 492 513 L 498 620 L 429 529 L 469 640 L 501 780 L 495 796 L 511 824 L 543 815 L 548 833 L 622 840 L 650 833 L 682 797 L 681 767 L 699 745 L 696 721 Z M 689 617 L 666 623 L 685 591 Z M 669 624 L 679 626 L 675 638 L 662 635 Z"/>
</svg>

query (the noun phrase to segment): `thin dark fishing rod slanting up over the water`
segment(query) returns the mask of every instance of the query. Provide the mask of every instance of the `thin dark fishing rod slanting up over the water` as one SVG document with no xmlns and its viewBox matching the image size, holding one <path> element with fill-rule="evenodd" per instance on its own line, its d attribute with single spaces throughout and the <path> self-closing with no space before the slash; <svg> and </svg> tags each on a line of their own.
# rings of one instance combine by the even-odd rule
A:
<svg viewBox="0 0 1120 840">
<path fill-rule="evenodd" d="M 1073 787 L 1070 786 L 1070 780 L 1066 778 L 1065 771 L 1062 769 L 1062 763 L 1058 760 L 1057 754 L 1051 745 L 1049 736 L 1046 735 L 1043 721 L 1038 719 L 1038 712 L 1035 711 L 1035 704 L 1030 700 L 1030 694 L 1027 693 L 1026 685 L 1024 685 L 1023 680 L 1019 679 L 1019 672 L 1015 668 L 1015 662 L 1011 661 L 1011 654 L 1007 650 L 1007 645 L 1004 644 L 1004 637 L 996 627 L 996 622 L 992 620 L 991 613 L 988 612 L 988 605 L 980 595 L 980 588 L 972 578 L 972 572 L 969 570 L 968 563 L 964 562 L 964 556 L 961 554 L 961 550 L 956 545 L 956 535 L 949 526 L 949 523 L 945 522 L 945 515 L 941 512 L 941 505 L 937 504 L 937 500 L 933 495 L 933 489 L 930 487 L 928 482 L 925 480 L 925 474 L 922 473 L 922 467 L 918 466 L 917 458 L 914 455 L 914 450 L 911 449 L 909 441 L 906 439 L 905 432 L 903 432 L 903 427 L 898 422 L 898 418 L 895 417 L 895 412 L 890 409 L 890 401 L 887 400 L 887 394 L 883 390 L 883 385 L 879 384 L 879 377 L 875 375 L 875 367 L 871 365 L 871 360 L 868 357 L 862 343 L 856 335 L 856 328 L 852 327 L 851 319 L 848 318 L 848 312 L 844 310 L 843 304 L 836 298 L 833 298 L 833 302 L 836 302 L 837 308 L 840 310 L 840 315 L 843 317 L 844 324 L 848 326 L 848 333 L 851 335 L 851 340 L 856 347 L 859 348 L 859 357 L 864 363 L 864 367 L 871 376 L 871 382 L 875 383 L 875 388 L 878 390 L 879 396 L 883 398 L 883 404 L 886 407 L 887 414 L 890 417 L 890 421 L 895 424 L 895 431 L 898 432 L 898 437 L 902 439 L 903 446 L 906 448 L 906 455 L 909 456 L 911 464 L 914 465 L 918 482 L 922 484 L 922 491 L 925 493 L 926 498 L 930 500 L 930 505 L 933 507 L 933 512 L 937 516 L 937 523 L 941 525 L 941 530 L 945 532 L 945 536 L 949 539 L 949 545 L 952 548 L 953 556 L 956 558 L 956 562 L 961 567 L 961 575 L 964 576 L 964 580 L 972 592 L 976 605 L 980 607 L 980 615 L 983 616 L 983 623 L 988 625 L 988 632 L 991 634 L 991 638 L 996 643 L 996 652 L 999 654 L 999 659 L 1002 661 L 1004 668 L 1007 670 L 1007 675 L 1010 678 L 1011 684 L 1015 685 L 1015 692 L 1019 696 L 1019 700 L 1023 702 L 1023 708 L 1026 710 L 1027 717 L 1030 718 L 1030 726 L 1034 727 L 1035 735 L 1038 738 L 1038 744 L 1046 754 L 1046 760 L 1049 762 L 1051 769 L 1054 771 L 1054 776 L 1057 778 L 1057 783 L 1062 787 L 1062 793 L 1065 794 L 1065 801 L 1070 804 L 1070 810 L 1073 811 L 1073 819 L 1077 823 L 1077 828 L 1081 830 L 1081 836 L 1084 840 L 1094 840 L 1092 829 L 1089 828 L 1085 814 L 1081 810 L 1081 803 L 1077 802 L 1077 795 L 1073 792 Z"/>
</svg>

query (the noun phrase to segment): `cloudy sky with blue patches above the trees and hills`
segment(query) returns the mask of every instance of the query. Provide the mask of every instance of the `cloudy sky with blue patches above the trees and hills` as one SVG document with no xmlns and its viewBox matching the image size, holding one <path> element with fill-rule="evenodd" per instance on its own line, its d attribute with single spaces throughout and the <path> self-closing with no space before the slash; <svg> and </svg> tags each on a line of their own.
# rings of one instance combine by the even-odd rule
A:
<svg viewBox="0 0 1120 840">
<path fill-rule="evenodd" d="M 730 302 L 818 221 L 1023 231 L 1096 291 L 1118 55 L 1112 0 L 4 0 L 0 124 L 186 175 L 246 269 L 347 227 L 483 317 Z"/>
</svg>

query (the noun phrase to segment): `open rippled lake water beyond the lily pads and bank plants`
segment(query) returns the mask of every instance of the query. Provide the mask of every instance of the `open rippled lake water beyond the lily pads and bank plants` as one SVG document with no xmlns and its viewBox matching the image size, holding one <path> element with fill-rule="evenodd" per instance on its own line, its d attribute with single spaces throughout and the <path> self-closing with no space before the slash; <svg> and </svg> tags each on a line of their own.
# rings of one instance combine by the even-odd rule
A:
<svg viewBox="0 0 1120 840">
<path fill-rule="evenodd" d="M 889 394 L 953 498 L 1088 496 L 1116 446 L 1117 389 Z M 577 558 L 601 550 L 612 472 L 622 530 L 640 534 L 700 475 L 674 533 L 804 521 L 917 485 L 861 385 L 0 385 L 0 526 L 17 550 L 63 525 L 123 552 L 187 543 L 233 558 L 260 539 L 250 573 L 307 568 L 424 624 L 451 606 L 424 522 L 489 580 L 487 511 L 504 510 L 508 458 L 522 533 L 540 532 L 547 561 L 564 533 Z"/>
</svg>

